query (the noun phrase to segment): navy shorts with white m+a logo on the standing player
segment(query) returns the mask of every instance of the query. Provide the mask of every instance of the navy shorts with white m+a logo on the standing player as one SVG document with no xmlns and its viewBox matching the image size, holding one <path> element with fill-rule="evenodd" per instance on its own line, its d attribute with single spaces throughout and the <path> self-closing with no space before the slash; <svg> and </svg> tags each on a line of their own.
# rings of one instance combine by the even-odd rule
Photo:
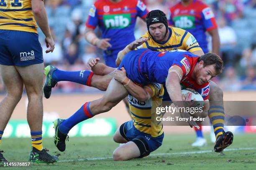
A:
<svg viewBox="0 0 256 170">
<path fill-rule="evenodd" d="M 38 34 L 0 30 L 0 64 L 27 66 L 44 62 Z"/>
</svg>

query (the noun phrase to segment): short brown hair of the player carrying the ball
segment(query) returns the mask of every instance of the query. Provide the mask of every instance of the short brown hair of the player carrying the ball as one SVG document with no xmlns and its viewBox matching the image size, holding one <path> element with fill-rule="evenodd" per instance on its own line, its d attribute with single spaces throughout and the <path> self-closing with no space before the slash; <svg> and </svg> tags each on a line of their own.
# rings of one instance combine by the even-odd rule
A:
<svg viewBox="0 0 256 170">
<path fill-rule="evenodd" d="M 208 52 L 202 55 L 197 62 L 200 61 L 204 62 L 204 67 L 215 64 L 216 75 L 220 74 L 220 72 L 223 70 L 223 60 L 220 58 L 220 56 L 214 53 Z"/>
</svg>

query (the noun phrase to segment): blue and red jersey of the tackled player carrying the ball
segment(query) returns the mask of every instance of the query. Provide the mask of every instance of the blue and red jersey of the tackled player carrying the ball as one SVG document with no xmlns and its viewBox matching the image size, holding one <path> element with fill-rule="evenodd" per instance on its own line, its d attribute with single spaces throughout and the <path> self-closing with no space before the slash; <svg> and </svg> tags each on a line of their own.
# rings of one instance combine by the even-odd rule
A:
<svg viewBox="0 0 256 170">
<path fill-rule="evenodd" d="M 185 50 L 157 52 L 142 48 L 128 52 L 119 68 L 125 67 L 127 77 L 138 85 L 146 85 L 149 82 L 165 85 L 169 68 L 177 65 L 184 73 L 180 81 L 182 89 L 192 88 L 207 100 L 210 90 L 209 82 L 198 85 L 192 78 L 198 59 L 199 56 Z"/>
</svg>

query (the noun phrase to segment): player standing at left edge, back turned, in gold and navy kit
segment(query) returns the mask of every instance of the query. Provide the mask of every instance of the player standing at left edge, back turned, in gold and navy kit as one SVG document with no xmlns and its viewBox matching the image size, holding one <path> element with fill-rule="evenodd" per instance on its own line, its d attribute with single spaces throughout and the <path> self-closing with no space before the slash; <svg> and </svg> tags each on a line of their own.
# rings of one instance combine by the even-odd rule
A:
<svg viewBox="0 0 256 170">
<path fill-rule="evenodd" d="M 58 158 L 49 155 L 49 150 L 44 149 L 42 144 L 44 60 L 36 23 L 46 36 L 47 47 L 50 47 L 46 53 L 54 50 L 44 1 L 2 1 L 0 16 L 0 71 L 7 91 L 7 95 L 0 102 L 0 144 L 3 131 L 21 99 L 25 85 L 28 95 L 27 120 L 32 144 L 29 160 L 54 163 Z M 2 152 L 0 151 L 0 165 L 7 162 Z"/>
</svg>

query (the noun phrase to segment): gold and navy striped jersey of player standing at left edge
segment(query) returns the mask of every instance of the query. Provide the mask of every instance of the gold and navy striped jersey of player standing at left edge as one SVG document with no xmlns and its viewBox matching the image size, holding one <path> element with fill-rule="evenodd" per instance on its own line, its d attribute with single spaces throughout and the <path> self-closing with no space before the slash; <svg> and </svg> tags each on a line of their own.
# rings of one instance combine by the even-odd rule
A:
<svg viewBox="0 0 256 170">
<path fill-rule="evenodd" d="M 37 33 L 31 0 L 0 0 L 0 30 Z"/>
</svg>

